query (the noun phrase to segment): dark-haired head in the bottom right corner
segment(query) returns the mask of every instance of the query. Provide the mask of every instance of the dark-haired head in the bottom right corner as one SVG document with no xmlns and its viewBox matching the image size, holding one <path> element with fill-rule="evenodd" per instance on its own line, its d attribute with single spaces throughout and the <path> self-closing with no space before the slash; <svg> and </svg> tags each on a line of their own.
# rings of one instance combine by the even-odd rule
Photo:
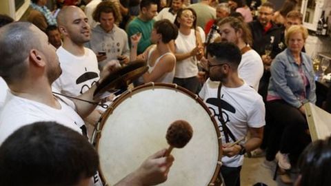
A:
<svg viewBox="0 0 331 186">
<path fill-rule="evenodd" d="M 310 143 L 299 157 L 301 186 L 331 183 L 331 138 Z"/>
</svg>

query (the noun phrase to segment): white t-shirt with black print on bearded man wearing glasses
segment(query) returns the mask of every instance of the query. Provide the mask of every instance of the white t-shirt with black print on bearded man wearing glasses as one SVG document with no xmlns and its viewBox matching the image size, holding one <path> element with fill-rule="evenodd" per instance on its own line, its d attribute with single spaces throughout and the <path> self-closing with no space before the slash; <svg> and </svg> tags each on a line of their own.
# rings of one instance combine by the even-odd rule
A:
<svg viewBox="0 0 331 186">
<path fill-rule="evenodd" d="M 248 133 L 248 127 L 258 128 L 265 125 L 265 107 L 262 97 L 246 83 L 240 87 L 221 87 L 221 100 L 217 99 L 218 81 L 208 79 L 199 92 L 199 96 L 206 103 L 210 112 L 214 114 L 219 125 L 222 143 L 225 142 L 223 127 L 219 119 L 219 107 L 222 105 L 222 113 L 225 125 L 236 138 L 243 138 Z M 230 138 L 230 143 L 234 141 Z M 223 156 L 223 165 L 227 167 L 239 167 L 243 164 L 243 156 L 236 155 L 229 158 Z"/>
</svg>

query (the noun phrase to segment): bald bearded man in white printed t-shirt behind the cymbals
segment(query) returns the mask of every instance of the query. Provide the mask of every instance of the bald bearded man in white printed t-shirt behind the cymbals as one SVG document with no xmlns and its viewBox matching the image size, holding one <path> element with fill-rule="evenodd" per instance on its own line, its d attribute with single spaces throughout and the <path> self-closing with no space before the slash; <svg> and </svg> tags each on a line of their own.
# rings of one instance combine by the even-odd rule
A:
<svg viewBox="0 0 331 186">
<path fill-rule="evenodd" d="M 63 45 L 57 50 L 62 74 L 53 83 L 55 90 L 68 96 L 79 96 L 99 80 L 97 56 L 84 44 L 90 41 L 90 25 L 84 12 L 76 6 L 63 8 L 57 16 L 63 35 Z M 84 118 L 91 134 L 92 126 L 99 121 L 100 110 L 94 110 Z"/>
</svg>

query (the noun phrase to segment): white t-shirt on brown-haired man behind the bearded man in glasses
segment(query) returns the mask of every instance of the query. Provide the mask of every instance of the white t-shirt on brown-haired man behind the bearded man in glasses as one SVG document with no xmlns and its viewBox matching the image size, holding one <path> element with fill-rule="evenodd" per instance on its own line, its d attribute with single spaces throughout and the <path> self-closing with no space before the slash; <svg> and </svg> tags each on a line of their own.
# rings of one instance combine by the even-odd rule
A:
<svg viewBox="0 0 331 186">
<path fill-rule="evenodd" d="M 248 50 L 241 56 L 238 74 L 254 90 L 258 90 L 260 79 L 263 76 L 263 62 L 255 50 Z"/>
</svg>

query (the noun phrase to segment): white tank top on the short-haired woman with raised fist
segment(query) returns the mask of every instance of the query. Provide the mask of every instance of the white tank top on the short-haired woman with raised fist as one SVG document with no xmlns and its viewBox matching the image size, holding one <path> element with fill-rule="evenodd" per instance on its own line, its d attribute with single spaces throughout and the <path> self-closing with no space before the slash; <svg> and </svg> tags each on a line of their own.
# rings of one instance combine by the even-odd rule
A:
<svg viewBox="0 0 331 186">
<path fill-rule="evenodd" d="M 154 65 L 153 66 L 150 66 L 150 55 L 155 50 L 155 48 L 156 47 L 151 48 L 150 51 L 148 52 L 148 61 L 147 61 L 147 64 L 148 64 L 148 72 L 149 73 L 151 73 L 154 70 L 154 68 L 157 65 L 157 63 L 159 63 L 160 59 L 163 56 L 165 56 L 165 55 L 171 55 L 171 56 L 173 56 L 174 57 L 174 61 L 176 61 L 176 56 L 174 56 L 174 54 L 172 54 L 172 52 L 167 52 L 167 53 L 159 56 L 157 58 L 157 60 L 155 60 Z M 156 82 L 156 83 L 172 83 L 172 81 L 174 80 L 174 69 L 175 68 L 173 68 L 171 72 L 167 72 L 167 73 L 163 74 L 163 76 L 161 76 L 159 79 L 157 79 L 154 82 Z"/>
</svg>

